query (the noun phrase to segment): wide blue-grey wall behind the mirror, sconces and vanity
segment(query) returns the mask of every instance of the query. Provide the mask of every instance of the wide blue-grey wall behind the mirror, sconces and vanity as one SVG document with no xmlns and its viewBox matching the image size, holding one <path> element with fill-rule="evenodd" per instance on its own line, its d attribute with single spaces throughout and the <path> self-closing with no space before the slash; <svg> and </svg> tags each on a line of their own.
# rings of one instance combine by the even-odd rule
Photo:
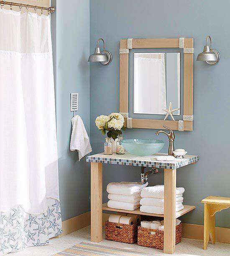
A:
<svg viewBox="0 0 230 256">
<path fill-rule="evenodd" d="M 197 164 L 177 172 L 177 186 L 186 189 L 184 203 L 197 207 L 184 215 L 183 221 L 187 223 L 203 224 L 200 200 L 204 197 L 230 197 L 227 163 L 227 146 L 230 144 L 227 134 L 230 127 L 229 8 L 228 0 L 90 0 L 90 52 L 94 51 L 97 39 L 102 37 L 113 54 L 113 61 L 107 67 L 90 64 L 90 134 L 94 153 L 103 151 L 104 142 L 104 136 L 95 127 L 95 118 L 119 111 L 120 39 L 193 37 L 195 59 L 210 34 L 213 46 L 220 51 L 220 63 L 214 67 L 194 61 L 194 131 L 176 132 L 176 148 L 200 155 Z M 154 138 L 155 132 L 131 129 L 124 135 L 126 138 Z M 158 138 L 166 141 L 164 134 Z M 164 152 L 167 152 L 167 145 Z M 107 183 L 139 181 L 140 168 L 105 165 L 103 173 L 103 201 L 106 202 Z M 163 184 L 163 178 L 161 170 L 150 178 L 150 184 Z M 216 223 L 220 227 L 230 227 L 229 212 L 219 213 Z"/>
</svg>

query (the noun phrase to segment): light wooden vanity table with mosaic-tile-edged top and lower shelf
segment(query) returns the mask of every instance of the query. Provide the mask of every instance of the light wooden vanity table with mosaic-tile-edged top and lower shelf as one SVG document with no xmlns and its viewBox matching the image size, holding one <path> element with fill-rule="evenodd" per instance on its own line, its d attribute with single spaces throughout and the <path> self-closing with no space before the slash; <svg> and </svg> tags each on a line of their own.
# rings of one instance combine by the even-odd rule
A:
<svg viewBox="0 0 230 256">
<path fill-rule="evenodd" d="M 165 155 L 157 153 L 156 155 Z M 91 162 L 91 241 L 102 240 L 102 210 L 112 212 L 127 212 L 140 215 L 157 216 L 164 218 L 164 253 L 175 251 L 175 219 L 195 209 L 195 206 L 184 205 L 184 209 L 176 212 L 176 169 L 196 163 L 199 160 L 197 155 L 185 155 L 184 159 L 175 161 L 156 161 L 152 156 L 137 156 L 125 153 L 125 155 L 105 155 L 104 153 L 87 156 L 87 162 Z M 126 211 L 107 207 L 102 204 L 102 164 L 118 164 L 146 166 L 151 168 L 164 169 L 164 215 L 140 212 L 140 209 Z M 138 169 L 136 170 L 138 171 Z M 139 170 L 141 171 L 141 170 Z M 186 188 L 185 188 L 186 189 Z"/>
</svg>

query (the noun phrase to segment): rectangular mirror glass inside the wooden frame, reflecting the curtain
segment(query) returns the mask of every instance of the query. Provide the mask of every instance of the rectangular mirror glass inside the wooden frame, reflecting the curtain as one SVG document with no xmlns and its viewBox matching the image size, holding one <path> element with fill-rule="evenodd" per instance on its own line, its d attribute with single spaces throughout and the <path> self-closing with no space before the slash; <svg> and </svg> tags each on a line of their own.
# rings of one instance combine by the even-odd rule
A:
<svg viewBox="0 0 230 256">
<path fill-rule="evenodd" d="M 180 108 L 180 53 L 134 53 L 134 114 L 166 114 Z M 179 115 L 180 110 L 174 115 Z"/>
</svg>

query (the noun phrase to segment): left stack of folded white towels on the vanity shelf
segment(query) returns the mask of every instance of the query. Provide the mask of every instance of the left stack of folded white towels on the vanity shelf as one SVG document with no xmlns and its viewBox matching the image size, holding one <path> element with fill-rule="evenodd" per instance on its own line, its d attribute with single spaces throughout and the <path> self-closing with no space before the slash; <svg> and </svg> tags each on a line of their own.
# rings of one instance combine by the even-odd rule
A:
<svg viewBox="0 0 230 256">
<path fill-rule="evenodd" d="M 141 191 L 148 186 L 140 182 L 111 182 L 106 191 L 109 202 L 107 206 L 114 209 L 134 211 L 140 207 Z"/>
</svg>

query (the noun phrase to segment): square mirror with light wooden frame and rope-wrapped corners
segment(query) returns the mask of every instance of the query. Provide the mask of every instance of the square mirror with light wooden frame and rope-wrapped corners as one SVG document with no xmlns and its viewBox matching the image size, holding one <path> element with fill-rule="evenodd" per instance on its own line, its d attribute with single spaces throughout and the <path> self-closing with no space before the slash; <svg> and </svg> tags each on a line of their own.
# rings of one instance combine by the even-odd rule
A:
<svg viewBox="0 0 230 256">
<path fill-rule="evenodd" d="M 150 49 L 151 52 L 140 53 L 135 52 L 135 49 Z M 157 52 L 154 52 L 154 49 L 157 49 Z M 173 49 L 173 52 L 163 50 L 159 52 L 159 49 Z M 181 120 L 163 120 L 164 116 L 162 119 L 130 118 L 130 53 L 133 53 L 134 70 L 132 116 L 135 114 L 165 115 L 166 112 L 162 109 L 169 109 L 169 102 L 172 102 L 173 109 L 179 108 L 174 115 L 182 116 Z M 162 129 L 165 124 L 173 130 L 192 131 L 193 53 L 193 38 L 120 40 L 120 113 L 125 117 L 126 127 Z M 183 74 L 180 68 L 182 54 Z M 181 84 L 184 85 L 183 98 L 180 96 Z M 183 102 L 182 110 L 180 99 Z"/>
</svg>

